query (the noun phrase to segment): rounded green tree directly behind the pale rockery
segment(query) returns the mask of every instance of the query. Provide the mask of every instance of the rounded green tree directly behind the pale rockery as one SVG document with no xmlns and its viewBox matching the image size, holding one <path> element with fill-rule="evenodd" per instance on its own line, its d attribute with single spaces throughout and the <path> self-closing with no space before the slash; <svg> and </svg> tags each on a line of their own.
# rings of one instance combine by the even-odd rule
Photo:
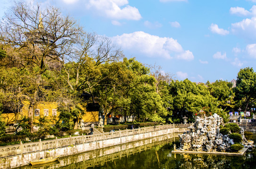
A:
<svg viewBox="0 0 256 169">
<path fill-rule="evenodd" d="M 203 110 L 206 115 L 217 113 L 227 118 L 225 113 L 218 108 L 218 101 L 207 89 L 205 84 L 192 83 L 190 80 L 172 81 L 169 92 L 173 97 L 173 120 L 182 122 L 185 115 L 189 122 L 194 120 L 194 115 Z"/>
</svg>

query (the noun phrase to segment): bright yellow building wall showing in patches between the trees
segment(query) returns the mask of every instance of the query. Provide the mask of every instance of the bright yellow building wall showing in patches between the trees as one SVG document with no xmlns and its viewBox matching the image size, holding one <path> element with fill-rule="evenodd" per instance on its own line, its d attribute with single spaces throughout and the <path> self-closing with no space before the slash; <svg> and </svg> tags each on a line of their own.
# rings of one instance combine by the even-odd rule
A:
<svg viewBox="0 0 256 169">
<path fill-rule="evenodd" d="M 21 116 L 27 116 L 28 115 L 28 107 L 29 102 L 24 101 L 24 107 L 22 108 L 22 112 L 18 114 L 17 119 L 20 119 Z M 38 118 L 41 116 L 44 116 L 45 113 L 47 114 L 48 109 L 48 117 L 53 118 L 53 110 L 57 110 L 57 103 L 56 102 L 43 102 L 38 104 L 37 106 L 34 106 L 33 108 L 33 119 L 34 122 L 38 122 Z M 85 111 L 85 115 L 82 116 L 83 122 L 99 122 L 99 112 L 86 112 L 85 106 L 81 105 L 82 109 Z M 39 110 L 39 115 L 37 116 L 35 113 L 35 110 Z M 59 112 L 57 111 L 57 117 L 59 115 Z M 2 119 L 5 120 L 6 123 L 15 123 L 15 115 L 14 113 L 3 113 L 1 115 Z"/>
</svg>

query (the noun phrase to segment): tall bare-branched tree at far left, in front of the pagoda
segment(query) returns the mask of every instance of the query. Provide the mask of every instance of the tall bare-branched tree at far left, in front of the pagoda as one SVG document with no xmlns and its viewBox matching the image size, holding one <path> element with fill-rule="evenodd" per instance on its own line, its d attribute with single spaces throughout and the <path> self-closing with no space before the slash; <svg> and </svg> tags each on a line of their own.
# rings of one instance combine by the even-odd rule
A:
<svg viewBox="0 0 256 169">
<path fill-rule="evenodd" d="M 20 85 L 25 90 L 20 91 L 24 91 L 22 95 L 30 103 L 29 117 L 33 121 L 33 107 L 45 98 L 47 89 L 52 91 L 53 88 L 50 81 L 45 81 L 51 78 L 48 70 L 61 68 L 60 58 L 72 52 L 72 46 L 83 31 L 58 8 L 42 9 L 25 1 L 14 2 L 0 24 L 0 45 L 6 51 L 1 60 L 5 64 L 1 65 L 25 70 L 26 83 Z M 31 129 L 33 132 L 33 127 Z"/>
</svg>

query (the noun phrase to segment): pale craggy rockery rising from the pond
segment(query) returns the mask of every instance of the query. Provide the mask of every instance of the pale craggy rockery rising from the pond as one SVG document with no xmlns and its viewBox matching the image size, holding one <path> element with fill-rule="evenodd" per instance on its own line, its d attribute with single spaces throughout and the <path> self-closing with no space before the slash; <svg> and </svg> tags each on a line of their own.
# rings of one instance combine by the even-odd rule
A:
<svg viewBox="0 0 256 169">
<path fill-rule="evenodd" d="M 233 139 L 220 133 L 220 125 L 223 125 L 223 118 L 217 114 L 204 118 L 197 116 L 194 125 L 188 127 L 189 131 L 179 135 L 180 149 L 197 152 L 223 152 L 229 149 L 234 144 Z M 241 128 L 243 141 L 247 141 L 243 132 Z"/>
</svg>

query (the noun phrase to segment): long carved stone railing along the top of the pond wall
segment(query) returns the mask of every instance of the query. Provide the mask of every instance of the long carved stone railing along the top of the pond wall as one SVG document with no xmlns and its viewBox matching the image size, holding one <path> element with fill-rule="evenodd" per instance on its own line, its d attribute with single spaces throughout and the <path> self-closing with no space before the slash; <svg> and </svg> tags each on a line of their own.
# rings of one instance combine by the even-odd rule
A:
<svg viewBox="0 0 256 169">
<path fill-rule="evenodd" d="M 161 131 L 165 129 L 171 128 L 187 128 L 192 124 L 167 124 L 167 125 L 157 125 L 151 127 L 143 127 L 138 129 L 132 130 L 122 130 L 122 131 L 111 131 L 111 132 L 103 132 L 101 134 L 93 134 L 93 135 L 82 135 L 82 136 L 75 136 L 69 138 L 55 138 L 51 140 L 41 141 L 38 142 L 31 142 L 31 143 L 22 143 L 18 145 L 12 146 L 1 146 L 0 147 L 0 158 L 8 157 L 12 155 L 18 154 L 26 154 L 26 153 L 33 153 L 38 151 L 45 151 L 59 147 L 66 147 L 72 145 L 79 145 L 93 141 L 105 140 L 105 139 L 112 139 L 112 138 L 119 138 L 124 136 L 131 136 L 141 133 L 147 133 L 152 131 Z"/>
</svg>

